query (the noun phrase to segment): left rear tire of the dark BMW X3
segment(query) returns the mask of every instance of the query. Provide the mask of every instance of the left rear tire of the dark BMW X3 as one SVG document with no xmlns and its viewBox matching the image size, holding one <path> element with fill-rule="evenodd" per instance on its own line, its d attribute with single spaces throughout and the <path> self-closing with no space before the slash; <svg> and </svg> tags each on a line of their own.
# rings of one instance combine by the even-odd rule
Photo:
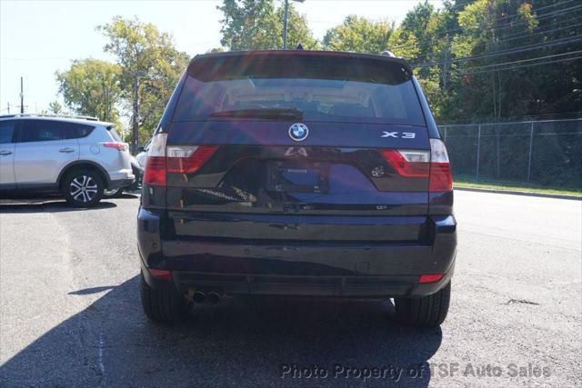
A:
<svg viewBox="0 0 582 388">
<path fill-rule="evenodd" d="M 155 289 L 149 286 L 140 274 L 140 291 L 142 307 L 147 318 L 154 322 L 176 322 L 186 317 L 186 300 L 184 295 L 174 288 Z"/>
</svg>

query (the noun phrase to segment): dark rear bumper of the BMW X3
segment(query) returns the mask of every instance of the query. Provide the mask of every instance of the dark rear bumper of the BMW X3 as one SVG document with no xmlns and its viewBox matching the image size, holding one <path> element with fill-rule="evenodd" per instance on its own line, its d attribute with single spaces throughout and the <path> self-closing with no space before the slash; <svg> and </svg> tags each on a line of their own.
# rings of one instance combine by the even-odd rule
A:
<svg viewBox="0 0 582 388">
<path fill-rule="evenodd" d="M 430 244 L 246 244 L 163 240 L 163 214 L 142 208 L 137 219 L 142 269 L 146 282 L 156 288 L 250 295 L 424 296 L 444 287 L 454 272 L 457 223 L 452 215 L 430 218 Z M 169 270 L 173 280 L 159 280 L 147 268 Z M 421 274 L 444 276 L 436 283 L 418 284 Z"/>
</svg>

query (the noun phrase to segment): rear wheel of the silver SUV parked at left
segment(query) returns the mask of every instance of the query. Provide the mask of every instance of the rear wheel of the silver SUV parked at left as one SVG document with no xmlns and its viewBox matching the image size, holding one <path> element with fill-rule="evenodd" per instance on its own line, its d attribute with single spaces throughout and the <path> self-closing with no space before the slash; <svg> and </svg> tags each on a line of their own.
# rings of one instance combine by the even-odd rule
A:
<svg viewBox="0 0 582 388">
<path fill-rule="evenodd" d="M 92 207 L 103 197 L 105 184 L 101 176 L 91 170 L 73 170 L 66 174 L 61 192 L 68 204 L 74 207 Z"/>
</svg>

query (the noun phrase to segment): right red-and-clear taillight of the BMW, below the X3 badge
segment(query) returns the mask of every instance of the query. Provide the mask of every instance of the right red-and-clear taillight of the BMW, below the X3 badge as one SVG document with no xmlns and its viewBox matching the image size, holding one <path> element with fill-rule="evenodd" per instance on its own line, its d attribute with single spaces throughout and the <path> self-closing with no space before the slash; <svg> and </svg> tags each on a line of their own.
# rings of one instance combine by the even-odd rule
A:
<svg viewBox="0 0 582 388">
<path fill-rule="evenodd" d="M 447 147 L 439 139 L 430 139 L 430 152 L 422 150 L 381 150 L 400 176 L 428 178 L 429 192 L 447 192 L 453 189 L 451 166 Z"/>
</svg>

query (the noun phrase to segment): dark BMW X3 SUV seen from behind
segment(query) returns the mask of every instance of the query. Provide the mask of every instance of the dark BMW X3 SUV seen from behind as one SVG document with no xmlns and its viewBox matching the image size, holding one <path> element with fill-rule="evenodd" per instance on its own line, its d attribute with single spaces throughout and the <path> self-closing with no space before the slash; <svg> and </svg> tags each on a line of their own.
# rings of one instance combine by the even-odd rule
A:
<svg viewBox="0 0 582 388">
<path fill-rule="evenodd" d="M 223 295 L 394 298 L 447 315 L 457 223 L 445 144 L 385 55 L 198 55 L 154 134 L 137 217 L 147 317 Z"/>
</svg>

